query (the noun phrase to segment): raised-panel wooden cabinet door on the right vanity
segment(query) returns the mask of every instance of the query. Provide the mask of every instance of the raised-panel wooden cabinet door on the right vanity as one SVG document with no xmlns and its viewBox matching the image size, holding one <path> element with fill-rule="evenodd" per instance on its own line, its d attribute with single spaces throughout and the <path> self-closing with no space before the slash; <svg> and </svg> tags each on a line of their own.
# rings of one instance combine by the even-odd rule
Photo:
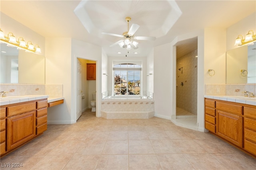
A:
<svg viewBox="0 0 256 170">
<path fill-rule="evenodd" d="M 242 116 L 217 110 L 217 135 L 242 147 L 242 119 Z"/>
</svg>

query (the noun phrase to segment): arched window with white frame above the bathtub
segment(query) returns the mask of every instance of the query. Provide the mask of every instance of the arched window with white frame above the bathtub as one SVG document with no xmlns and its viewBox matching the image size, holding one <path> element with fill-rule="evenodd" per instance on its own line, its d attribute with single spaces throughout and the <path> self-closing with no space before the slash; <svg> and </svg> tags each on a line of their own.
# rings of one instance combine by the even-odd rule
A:
<svg viewBox="0 0 256 170">
<path fill-rule="evenodd" d="M 140 95 L 141 66 L 122 63 L 113 66 L 114 95 Z"/>
</svg>

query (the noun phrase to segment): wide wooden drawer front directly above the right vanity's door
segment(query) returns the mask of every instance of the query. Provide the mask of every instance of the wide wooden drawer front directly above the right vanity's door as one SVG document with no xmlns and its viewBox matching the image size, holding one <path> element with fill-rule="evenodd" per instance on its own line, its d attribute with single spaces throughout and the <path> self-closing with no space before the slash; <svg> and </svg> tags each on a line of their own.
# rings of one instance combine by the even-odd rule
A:
<svg viewBox="0 0 256 170">
<path fill-rule="evenodd" d="M 216 109 L 227 111 L 228 113 L 242 115 L 242 106 L 238 106 L 234 104 L 216 102 Z"/>
</svg>

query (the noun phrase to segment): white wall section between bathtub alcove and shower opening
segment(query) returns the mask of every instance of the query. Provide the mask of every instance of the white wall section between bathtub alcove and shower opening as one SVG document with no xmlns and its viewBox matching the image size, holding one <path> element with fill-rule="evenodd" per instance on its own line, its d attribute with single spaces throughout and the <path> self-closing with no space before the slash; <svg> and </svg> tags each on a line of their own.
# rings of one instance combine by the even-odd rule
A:
<svg viewBox="0 0 256 170">
<path fill-rule="evenodd" d="M 170 119 L 172 114 L 172 46 L 171 43 L 154 48 L 155 116 Z"/>
</svg>

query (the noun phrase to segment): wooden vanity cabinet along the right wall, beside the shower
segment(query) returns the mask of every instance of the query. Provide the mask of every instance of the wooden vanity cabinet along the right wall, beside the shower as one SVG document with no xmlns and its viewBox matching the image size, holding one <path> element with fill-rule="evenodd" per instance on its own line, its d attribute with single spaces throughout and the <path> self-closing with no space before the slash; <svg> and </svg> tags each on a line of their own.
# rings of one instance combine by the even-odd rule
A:
<svg viewBox="0 0 256 170">
<path fill-rule="evenodd" d="M 256 156 L 256 106 L 205 98 L 205 128 Z"/>
</svg>

